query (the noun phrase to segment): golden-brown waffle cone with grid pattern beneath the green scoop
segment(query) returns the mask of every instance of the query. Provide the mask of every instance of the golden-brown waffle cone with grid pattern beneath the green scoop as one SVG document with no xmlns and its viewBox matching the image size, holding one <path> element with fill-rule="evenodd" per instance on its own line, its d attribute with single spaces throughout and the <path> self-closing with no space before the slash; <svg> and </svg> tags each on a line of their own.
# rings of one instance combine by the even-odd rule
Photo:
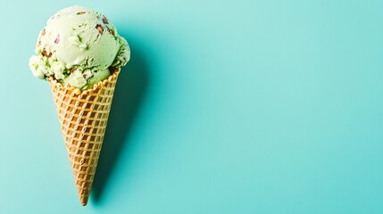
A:
<svg viewBox="0 0 383 214">
<path fill-rule="evenodd" d="M 109 78 L 83 92 L 49 79 L 79 200 L 83 206 L 87 205 L 95 178 L 119 73 L 120 69 L 114 70 Z"/>
</svg>

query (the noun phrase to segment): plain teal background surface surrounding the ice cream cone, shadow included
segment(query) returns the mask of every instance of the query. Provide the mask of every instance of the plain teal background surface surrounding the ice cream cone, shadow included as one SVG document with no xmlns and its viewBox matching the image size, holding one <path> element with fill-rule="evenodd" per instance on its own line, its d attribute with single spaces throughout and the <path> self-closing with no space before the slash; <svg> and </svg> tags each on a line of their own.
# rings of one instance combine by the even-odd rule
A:
<svg viewBox="0 0 383 214">
<path fill-rule="evenodd" d="M 39 30 L 72 4 L 103 12 L 131 47 L 87 207 L 49 86 L 28 67 Z M 8 1 L 0 213 L 383 213 L 382 9 Z"/>
</svg>

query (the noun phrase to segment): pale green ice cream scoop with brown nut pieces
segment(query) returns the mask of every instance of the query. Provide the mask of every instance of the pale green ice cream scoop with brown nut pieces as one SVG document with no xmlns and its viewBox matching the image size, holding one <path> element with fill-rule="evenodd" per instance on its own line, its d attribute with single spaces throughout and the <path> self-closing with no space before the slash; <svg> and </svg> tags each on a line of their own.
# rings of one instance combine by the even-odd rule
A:
<svg viewBox="0 0 383 214">
<path fill-rule="evenodd" d="M 130 59 L 125 38 L 100 12 L 78 5 L 57 12 L 41 30 L 29 67 L 37 78 L 54 77 L 81 90 L 108 78 Z"/>
</svg>

